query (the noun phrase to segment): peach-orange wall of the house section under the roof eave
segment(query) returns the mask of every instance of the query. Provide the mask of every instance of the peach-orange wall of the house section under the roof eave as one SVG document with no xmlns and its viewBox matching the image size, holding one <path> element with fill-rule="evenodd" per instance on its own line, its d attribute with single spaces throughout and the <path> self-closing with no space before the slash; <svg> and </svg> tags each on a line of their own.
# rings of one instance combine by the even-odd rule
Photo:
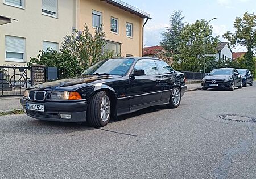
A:
<svg viewBox="0 0 256 179">
<path fill-rule="evenodd" d="M 95 32 L 92 27 L 92 11 L 102 13 L 102 24 L 106 33 L 106 40 L 121 43 L 121 56 L 126 54 L 142 56 L 142 26 L 144 19 L 137 15 L 131 14 L 100 0 L 77 0 L 79 10 L 77 13 L 78 27 L 84 28 L 88 24 L 90 33 Z M 119 34 L 110 31 L 110 18 L 117 18 L 119 21 Z M 126 37 L 126 22 L 133 24 L 133 37 Z"/>
</svg>

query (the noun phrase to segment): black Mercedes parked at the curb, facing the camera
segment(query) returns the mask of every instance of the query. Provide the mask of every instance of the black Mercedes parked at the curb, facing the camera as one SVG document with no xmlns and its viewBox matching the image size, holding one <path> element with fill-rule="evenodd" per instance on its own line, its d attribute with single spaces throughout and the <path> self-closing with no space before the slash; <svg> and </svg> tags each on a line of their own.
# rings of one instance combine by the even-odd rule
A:
<svg viewBox="0 0 256 179">
<path fill-rule="evenodd" d="M 233 91 L 235 87 L 243 87 L 242 77 L 237 69 L 214 69 L 202 80 L 203 90 L 225 88 Z"/>
</svg>

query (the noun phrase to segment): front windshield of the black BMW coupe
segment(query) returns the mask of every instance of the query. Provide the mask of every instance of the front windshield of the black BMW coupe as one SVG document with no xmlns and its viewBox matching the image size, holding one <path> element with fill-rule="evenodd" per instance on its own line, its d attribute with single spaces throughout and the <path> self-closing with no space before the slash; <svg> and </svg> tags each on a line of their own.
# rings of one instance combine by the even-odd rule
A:
<svg viewBox="0 0 256 179">
<path fill-rule="evenodd" d="M 82 75 L 119 75 L 124 76 L 133 64 L 133 58 L 105 59 L 85 70 Z"/>
</svg>

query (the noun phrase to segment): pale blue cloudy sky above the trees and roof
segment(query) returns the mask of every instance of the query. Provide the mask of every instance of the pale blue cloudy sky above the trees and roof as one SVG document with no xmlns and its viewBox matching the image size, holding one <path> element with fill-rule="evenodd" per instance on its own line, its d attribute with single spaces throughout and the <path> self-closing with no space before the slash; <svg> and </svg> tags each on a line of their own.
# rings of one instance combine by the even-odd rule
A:
<svg viewBox="0 0 256 179">
<path fill-rule="evenodd" d="M 169 26 L 170 15 L 174 10 L 182 11 L 186 23 L 196 22 L 197 19 L 210 20 L 218 18 L 209 23 L 213 26 L 213 35 L 220 36 L 226 31 L 234 32 L 234 19 L 242 18 L 245 12 L 256 11 L 255 0 L 123 0 L 150 14 L 152 20 L 148 20 L 145 26 L 144 44 L 145 46 L 159 45 L 162 40 L 162 32 Z M 246 48 L 239 46 L 232 49 L 235 52 L 243 52 Z"/>
</svg>

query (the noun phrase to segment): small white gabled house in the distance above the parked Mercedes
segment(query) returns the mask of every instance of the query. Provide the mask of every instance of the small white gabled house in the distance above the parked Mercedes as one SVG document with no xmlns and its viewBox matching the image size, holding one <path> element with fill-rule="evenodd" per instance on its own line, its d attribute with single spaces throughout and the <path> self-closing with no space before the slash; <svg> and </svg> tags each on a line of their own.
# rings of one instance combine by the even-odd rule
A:
<svg viewBox="0 0 256 179">
<path fill-rule="evenodd" d="M 232 59 L 232 50 L 228 42 L 220 42 L 217 46 L 216 60 Z"/>
</svg>

